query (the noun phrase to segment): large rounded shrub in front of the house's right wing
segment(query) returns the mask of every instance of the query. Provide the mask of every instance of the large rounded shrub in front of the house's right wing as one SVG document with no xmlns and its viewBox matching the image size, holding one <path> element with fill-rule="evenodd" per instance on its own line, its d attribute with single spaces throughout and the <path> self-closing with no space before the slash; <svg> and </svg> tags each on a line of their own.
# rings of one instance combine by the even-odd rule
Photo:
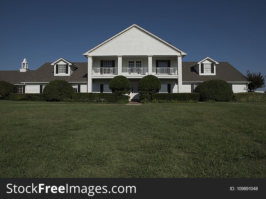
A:
<svg viewBox="0 0 266 199">
<path fill-rule="evenodd" d="M 230 101 L 233 97 L 231 86 L 220 79 L 200 83 L 196 92 L 200 93 L 200 101 Z"/>
</svg>

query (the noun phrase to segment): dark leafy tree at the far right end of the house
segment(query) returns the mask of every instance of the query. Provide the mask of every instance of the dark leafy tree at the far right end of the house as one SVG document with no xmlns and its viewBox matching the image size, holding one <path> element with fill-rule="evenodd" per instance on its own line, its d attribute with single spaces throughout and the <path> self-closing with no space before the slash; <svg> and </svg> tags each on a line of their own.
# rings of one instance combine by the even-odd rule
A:
<svg viewBox="0 0 266 199">
<path fill-rule="evenodd" d="M 248 84 L 248 92 L 254 92 L 258 88 L 264 88 L 265 87 L 265 77 L 261 75 L 261 73 L 253 73 L 250 71 L 247 71 L 246 78 L 250 82 Z"/>
</svg>

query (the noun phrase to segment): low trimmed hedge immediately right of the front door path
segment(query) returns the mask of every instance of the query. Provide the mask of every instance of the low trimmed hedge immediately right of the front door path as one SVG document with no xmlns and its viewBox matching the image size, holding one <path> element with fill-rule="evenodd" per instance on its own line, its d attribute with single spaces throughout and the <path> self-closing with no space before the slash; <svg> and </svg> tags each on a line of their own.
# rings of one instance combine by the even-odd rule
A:
<svg viewBox="0 0 266 199">
<path fill-rule="evenodd" d="M 152 94 L 152 97 L 151 95 L 140 96 L 142 103 L 195 103 L 199 102 L 199 99 L 199 93 L 156 93 Z"/>
</svg>

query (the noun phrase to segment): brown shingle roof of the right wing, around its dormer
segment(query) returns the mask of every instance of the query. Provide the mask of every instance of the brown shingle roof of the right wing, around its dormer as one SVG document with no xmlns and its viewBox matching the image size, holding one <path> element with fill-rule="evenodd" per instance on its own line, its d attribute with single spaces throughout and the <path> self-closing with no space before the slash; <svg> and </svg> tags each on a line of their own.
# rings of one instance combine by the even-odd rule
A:
<svg viewBox="0 0 266 199">
<path fill-rule="evenodd" d="M 210 79 L 222 79 L 224 81 L 245 81 L 245 76 L 228 62 L 219 62 L 216 65 L 216 75 L 199 75 L 196 70 L 191 67 L 197 62 L 182 61 L 182 81 L 207 81 Z"/>
</svg>

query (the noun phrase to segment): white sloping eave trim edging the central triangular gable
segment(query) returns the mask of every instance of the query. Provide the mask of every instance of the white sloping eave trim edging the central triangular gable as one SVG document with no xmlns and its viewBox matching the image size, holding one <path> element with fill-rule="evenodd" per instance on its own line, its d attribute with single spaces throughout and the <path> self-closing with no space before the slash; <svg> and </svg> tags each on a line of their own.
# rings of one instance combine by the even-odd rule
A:
<svg viewBox="0 0 266 199">
<path fill-rule="evenodd" d="M 120 35 L 124 34 L 125 32 L 131 30 L 132 28 L 137 28 L 140 31 L 144 32 L 145 34 L 149 35 L 150 37 L 156 39 L 157 41 L 163 43 L 164 45 L 166 45 L 167 47 L 173 49 L 174 51 L 179 52 L 181 55 L 183 55 L 183 57 L 185 55 L 187 55 L 187 53 L 185 53 L 184 51 L 180 50 L 179 48 L 175 47 L 174 45 L 172 45 L 171 43 L 164 41 L 163 39 L 157 37 L 156 35 L 152 34 L 151 32 L 145 30 L 144 28 L 141 28 L 140 26 L 138 26 L 137 24 L 133 24 L 131 26 L 129 26 L 128 28 L 126 28 L 125 30 L 122 30 L 121 32 L 117 33 L 116 35 L 112 36 L 111 38 L 105 40 L 104 42 L 100 43 L 99 45 L 95 46 L 94 48 L 90 49 L 89 51 L 83 53 L 83 55 L 85 57 L 89 56 L 90 53 L 92 53 L 93 51 L 96 51 L 97 49 L 101 48 L 103 45 L 109 43 L 110 41 L 114 40 L 115 38 L 119 37 Z"/>
</svg>

